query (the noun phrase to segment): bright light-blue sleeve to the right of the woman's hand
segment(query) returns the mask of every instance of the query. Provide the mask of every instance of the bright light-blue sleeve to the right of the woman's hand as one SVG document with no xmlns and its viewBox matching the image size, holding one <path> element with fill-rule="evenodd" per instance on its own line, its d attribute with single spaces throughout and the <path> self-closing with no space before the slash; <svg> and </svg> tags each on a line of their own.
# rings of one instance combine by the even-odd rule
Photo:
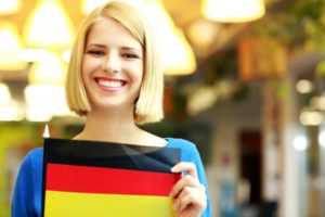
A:
<svg viewBox="0 0 325 217">
<path fill-rule="evenodd" d="M 208 182 L 207 182 L 207 178 L 206 178 L 205 167 L 202 163 L 202 158 L 200 158 L 199 152 L 196 149 L 196 145 L 192 143 L 192 146 L 194 150 L 192 161 L 196 165 L 199 182 L 205 186 L 206 193 L 207 193 L 207 208 L 203 213 L 202 217 L 211 217 L 211 201 L 210 201 L 210 195 L 209 195 L 209 191 L 208 191 Z"/>
</svg>

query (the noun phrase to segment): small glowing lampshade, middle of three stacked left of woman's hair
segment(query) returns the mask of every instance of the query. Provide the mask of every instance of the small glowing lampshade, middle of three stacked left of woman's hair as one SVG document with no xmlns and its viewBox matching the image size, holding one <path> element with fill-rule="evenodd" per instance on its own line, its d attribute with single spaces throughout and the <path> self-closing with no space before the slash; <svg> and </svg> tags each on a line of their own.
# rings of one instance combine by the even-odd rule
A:
<svg viewBox="0 0 325 217">
<path fill-rule="evenodd" d="M 55 55 L 48 54 L 41 62 L 36 62 L 28 74 L 31 85 L 63 85 L 66 65 Z"/>
</svg>

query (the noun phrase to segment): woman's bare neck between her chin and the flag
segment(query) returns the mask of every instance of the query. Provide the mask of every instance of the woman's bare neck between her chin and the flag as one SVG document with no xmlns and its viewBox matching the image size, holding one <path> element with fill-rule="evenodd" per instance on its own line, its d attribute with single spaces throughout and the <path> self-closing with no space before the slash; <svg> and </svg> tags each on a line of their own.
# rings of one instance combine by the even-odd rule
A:
<svg viewBox="0 0 325 217">
<path fill-rule="evenodd" d="M 75 139 L 129 143 L 141 135 L 139 132 L 141 129 L 134 123 L 133 111 L 93 110 L 87 115 L 82 132 Z"/>
</svg>

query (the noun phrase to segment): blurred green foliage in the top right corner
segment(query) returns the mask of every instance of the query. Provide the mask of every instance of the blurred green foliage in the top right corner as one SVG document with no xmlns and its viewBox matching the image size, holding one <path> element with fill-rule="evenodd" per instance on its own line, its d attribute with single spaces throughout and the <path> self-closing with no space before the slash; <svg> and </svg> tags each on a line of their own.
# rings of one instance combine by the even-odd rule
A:
<svg viewBox="0 0 325 217">
<path fill-rule="evenodd" d="M 252 33 L 275 37 L 290 51 L 325 51 L 325 1 L 295 0 L 252 24 Z"/>
</svg>

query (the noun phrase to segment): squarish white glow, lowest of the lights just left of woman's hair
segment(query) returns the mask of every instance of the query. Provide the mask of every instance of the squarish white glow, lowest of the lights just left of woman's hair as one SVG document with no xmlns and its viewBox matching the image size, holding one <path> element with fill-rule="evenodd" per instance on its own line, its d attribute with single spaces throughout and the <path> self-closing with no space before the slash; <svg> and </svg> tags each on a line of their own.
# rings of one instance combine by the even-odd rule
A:
<svg viewBox="0 0 325 217">
<path fill-rule="evenodd" d="M 54 115 L 67 115 L 64 87 L 34 85 L 25 88 L 26 118 L 30 122 L 48 122 Z"/>
</svg>

